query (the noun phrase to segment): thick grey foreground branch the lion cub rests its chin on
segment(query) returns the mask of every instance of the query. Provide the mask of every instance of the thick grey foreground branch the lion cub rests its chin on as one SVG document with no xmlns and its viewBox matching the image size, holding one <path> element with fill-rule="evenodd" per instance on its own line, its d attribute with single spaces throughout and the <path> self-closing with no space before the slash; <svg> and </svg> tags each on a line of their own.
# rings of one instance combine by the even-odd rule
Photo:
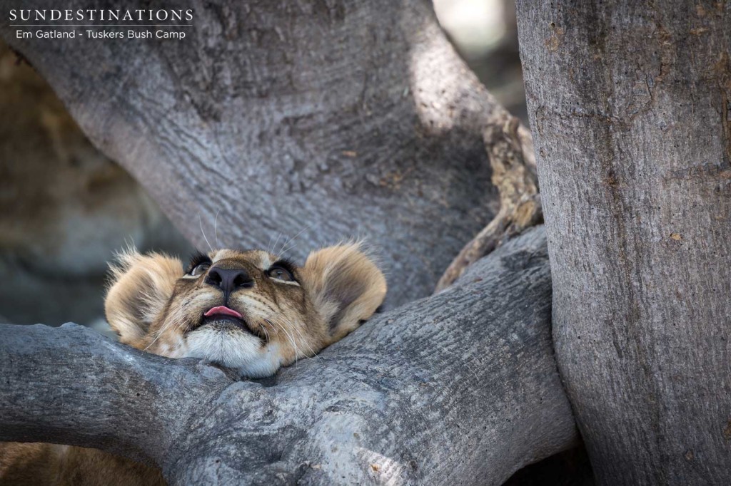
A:
<svg viewBox="0 0 731 486">
<path fill-rule="evenodd" d="M 0 440 L 122 452 L 173 485 L 499 485 L 576 443 L 542 228 L 259 382 L 77 326 L 0 335 Z"/>
</svg>

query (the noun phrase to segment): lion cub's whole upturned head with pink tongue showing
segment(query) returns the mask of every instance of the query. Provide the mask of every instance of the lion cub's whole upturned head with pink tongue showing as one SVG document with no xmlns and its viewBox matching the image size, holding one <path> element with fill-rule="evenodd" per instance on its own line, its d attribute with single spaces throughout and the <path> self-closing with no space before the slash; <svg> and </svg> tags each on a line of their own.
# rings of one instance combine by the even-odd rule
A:
<svg viewBox="0 0 731 486">
<path fill-rule="evenodd" d="M 105 311 L 121 342 L 255 378 L 343 338 L 385 293 L 358 244 L 312 252 L 302 267 L 261 250 L 214 250 L 184 270 L 177 258 L 132 251 L 112 267 Z"/>
</svg>

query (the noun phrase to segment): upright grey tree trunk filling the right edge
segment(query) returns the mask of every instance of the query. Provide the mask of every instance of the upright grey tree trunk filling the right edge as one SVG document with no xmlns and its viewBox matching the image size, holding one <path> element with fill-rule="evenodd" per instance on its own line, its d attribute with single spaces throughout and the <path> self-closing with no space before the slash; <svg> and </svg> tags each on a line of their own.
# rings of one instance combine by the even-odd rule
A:
<svg viewBox="0 0 731 486">
<path fill-rule="evenodd" d="M 599 482 L 731 483 L 731 4 L 518 2 L 561 377 Z"/>
</svg>

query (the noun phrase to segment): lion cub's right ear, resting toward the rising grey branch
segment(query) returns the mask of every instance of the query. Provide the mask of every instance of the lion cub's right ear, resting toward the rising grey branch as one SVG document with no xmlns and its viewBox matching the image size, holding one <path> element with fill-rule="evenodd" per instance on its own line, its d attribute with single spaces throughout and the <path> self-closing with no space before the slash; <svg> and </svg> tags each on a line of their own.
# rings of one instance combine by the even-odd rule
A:
<svg viewBox="0 0 731 486">
<path fill-rule="evenodd" d="M 325 319 L 330 342 L 371 317 L 386 295 L 386 279 L 360 244 L 340 244 L 311 252 L 303 284 Z"/>
</svg>

